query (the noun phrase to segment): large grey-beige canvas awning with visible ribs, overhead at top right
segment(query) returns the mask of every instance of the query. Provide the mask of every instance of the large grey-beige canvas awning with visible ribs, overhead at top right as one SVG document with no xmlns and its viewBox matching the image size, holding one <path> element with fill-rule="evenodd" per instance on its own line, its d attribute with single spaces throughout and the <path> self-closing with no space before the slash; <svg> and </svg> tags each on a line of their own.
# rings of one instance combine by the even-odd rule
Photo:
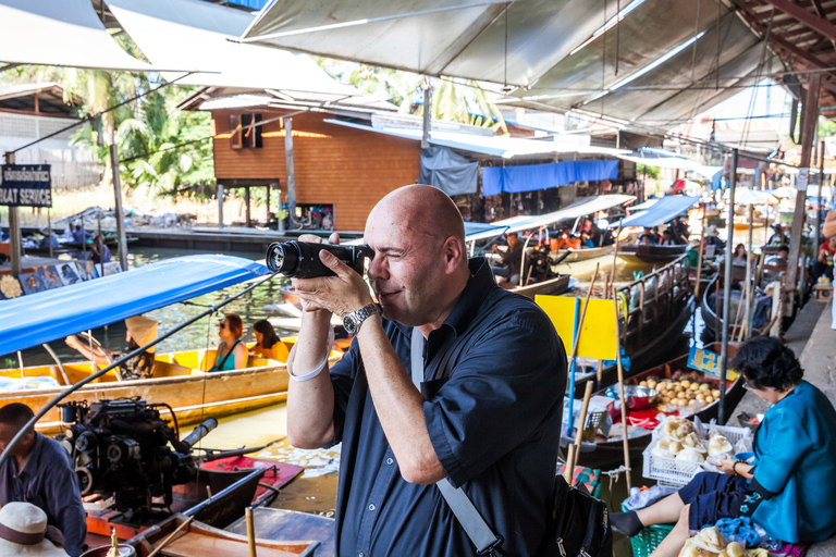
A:
<svg viewBox="0 0 836 557">
<path fill-rule="evenodd" d="M 512 84 L 504 102 L 669 128 L 780 67 L 723 3 L 273 0 L 243 40 Z M 616 25 L 616 23 L 618 23 Z M 772 65 L 770 65 L 772 64 Z"/>
</svg>

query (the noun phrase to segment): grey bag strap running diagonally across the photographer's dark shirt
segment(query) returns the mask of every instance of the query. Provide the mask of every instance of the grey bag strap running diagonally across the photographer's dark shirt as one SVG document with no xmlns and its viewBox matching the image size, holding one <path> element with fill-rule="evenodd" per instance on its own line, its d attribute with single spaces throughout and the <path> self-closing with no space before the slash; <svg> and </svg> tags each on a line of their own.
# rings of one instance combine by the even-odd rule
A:
<svg viewBox="0 0 836 557">
<path fill-rule="evenodd" d="M 423 382 L 423 334 L 416 326 L 413 327 L 411 344 L 411 368 L 413 384 L 421 389 Z M 496 536 L 491 527 L 484 521 L 482 516 L 474 506 L 474 502 L 462 490 L 453 487 L 446 478 L 435 483 L 444 500 L 447 502 L 450 510 L 456 516 L 458 523 L 465 529 L 467 536 L 476 546 L 479 555 L 499 555 L 496 548 L 502 543 L 502 537 Z"/>
</svg>

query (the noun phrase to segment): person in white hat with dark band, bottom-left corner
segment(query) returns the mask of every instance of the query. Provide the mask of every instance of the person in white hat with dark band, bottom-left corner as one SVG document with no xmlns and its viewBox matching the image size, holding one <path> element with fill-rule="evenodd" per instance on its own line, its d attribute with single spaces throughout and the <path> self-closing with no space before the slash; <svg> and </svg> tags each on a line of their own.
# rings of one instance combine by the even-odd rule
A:
<svg viewBox="0 0 836 557">
<path fill-rule="evenodd" d="M 12 502 L 0 508 L 0 555 L 67 557 L 63 536 L 47 525 L 47 513 L 32 503 Z"/>
</svg>

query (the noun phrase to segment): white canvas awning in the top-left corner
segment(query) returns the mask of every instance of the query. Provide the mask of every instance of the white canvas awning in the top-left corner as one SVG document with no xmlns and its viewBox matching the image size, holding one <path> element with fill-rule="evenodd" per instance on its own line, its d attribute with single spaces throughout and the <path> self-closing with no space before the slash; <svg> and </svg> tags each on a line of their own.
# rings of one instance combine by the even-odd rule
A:
<svg viewBox="0 0 836 557">
<path fill-rule="evenodd" d="M 113 40 L 89 0 L 0 0 L 0 61 L 131 72 L 198 69 L 153 66 L 132 57 Z"/>
</svg>

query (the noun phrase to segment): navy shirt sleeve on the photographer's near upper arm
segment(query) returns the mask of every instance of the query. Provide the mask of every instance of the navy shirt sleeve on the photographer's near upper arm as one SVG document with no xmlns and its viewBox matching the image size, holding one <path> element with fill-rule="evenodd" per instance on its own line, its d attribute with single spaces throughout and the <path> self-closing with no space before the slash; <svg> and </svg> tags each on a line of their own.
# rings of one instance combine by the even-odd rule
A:
<svg viewBox="0 0 836 557">
<path fill-rule="evenodd" d="M 563 404 L 566 354 L 554 326 L 522 309 L 487 327 L 423 404 L 435 455 L 459 486 L 528 438 Z"/>
</svg>

